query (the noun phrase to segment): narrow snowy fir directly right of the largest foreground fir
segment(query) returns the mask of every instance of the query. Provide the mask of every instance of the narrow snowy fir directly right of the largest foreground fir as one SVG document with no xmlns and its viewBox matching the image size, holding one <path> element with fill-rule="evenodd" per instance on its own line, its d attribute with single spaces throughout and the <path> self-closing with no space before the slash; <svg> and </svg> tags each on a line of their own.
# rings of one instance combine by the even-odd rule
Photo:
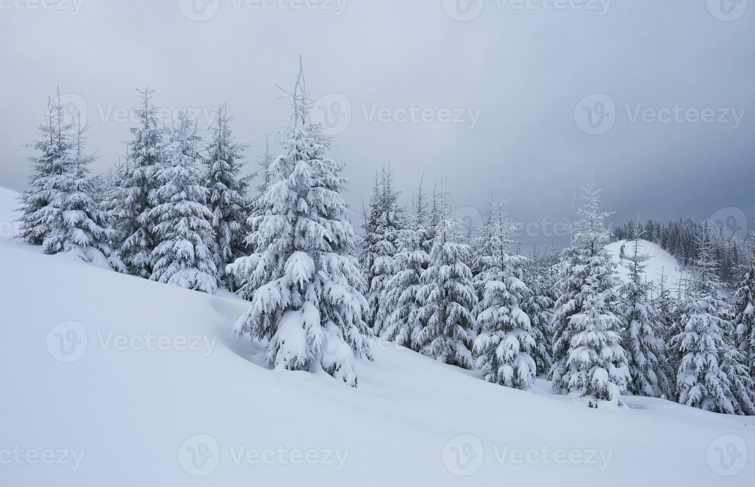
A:
<svg viewBox="0 0 755 487">
<path fill-rule="evenodd" d="M 377 194 L 371 200 L 371 214 L 374 214 L 374 227 L 368 235 L 367 269 L 369 290 L 367 301 L 370 304 L 368 325 L 379 336 L 387 326 L 390 312 L 387 303 L 387 282 L 396 274 L 396 240 L 402 223 L 399 217 L 399 193 L 393 187 L 393 170 L 382 168 L 377 177 Z"/>
</svg>

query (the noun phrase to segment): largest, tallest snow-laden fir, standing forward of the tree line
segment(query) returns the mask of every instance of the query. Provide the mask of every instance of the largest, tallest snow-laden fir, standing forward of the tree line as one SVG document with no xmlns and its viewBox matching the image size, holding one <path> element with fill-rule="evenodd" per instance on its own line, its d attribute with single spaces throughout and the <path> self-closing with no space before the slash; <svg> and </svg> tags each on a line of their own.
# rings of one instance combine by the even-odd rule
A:
<svg viewBox="0 0 755 487">
<path fill-rule="evenodd" d="M 310 121 L 300 71 L 285 155 L 270 165 L 262 214 L 251 218 L 252 254 L 228 266 L 251 293 L 236 331 L 264 341 L 267 361 L 289 370 L 324 369 L 356 387 L 354 361 L 370 356 L 365 278 L 347 221 L 344 165 L 325 157 L 330 143 Z M 254 290 L 254 291 L 251 291 Z"/>
</svg>

